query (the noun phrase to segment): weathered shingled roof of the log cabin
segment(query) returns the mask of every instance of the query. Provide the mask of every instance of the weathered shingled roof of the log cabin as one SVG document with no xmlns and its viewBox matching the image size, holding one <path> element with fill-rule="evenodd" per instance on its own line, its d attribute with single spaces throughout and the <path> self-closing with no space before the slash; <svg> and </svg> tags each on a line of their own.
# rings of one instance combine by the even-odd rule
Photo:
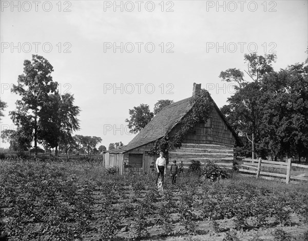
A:
<svg viewBox="0 0 308 241">
<path fill-rule="evenodd" d="M 194 83 L 195 84 L 195 83 Z M 201 88 L 201 84 L 199 86 Z M 195 91 L 195 90 L 194 90 Z M 221 116 L 225 124 L 228 126 L 232 134 L 238 143 L 240 140 L 238 135 L 235 133 L 233 128 L 227 123 L 225 117 L 221 113 L 219 107 L 216 105 L 214 100 L 208 95 L 210 100 L 214 104 L 214 108 L 217 110 L 218 114 Z M 135 136 L 126 146 L 121 149 L 114 149 L 109 153 L 124 153 L 132 150 L 136 147 L 145 145 L 152 141 L 164 137 L 167 131 L 170 131 L 175 125 L 188 113 L 192 105 L 190 100 L 192 97 L 180 100 L 176 103 L 170 104 L 164 107 L 139 133 Z"/>
</svg>

